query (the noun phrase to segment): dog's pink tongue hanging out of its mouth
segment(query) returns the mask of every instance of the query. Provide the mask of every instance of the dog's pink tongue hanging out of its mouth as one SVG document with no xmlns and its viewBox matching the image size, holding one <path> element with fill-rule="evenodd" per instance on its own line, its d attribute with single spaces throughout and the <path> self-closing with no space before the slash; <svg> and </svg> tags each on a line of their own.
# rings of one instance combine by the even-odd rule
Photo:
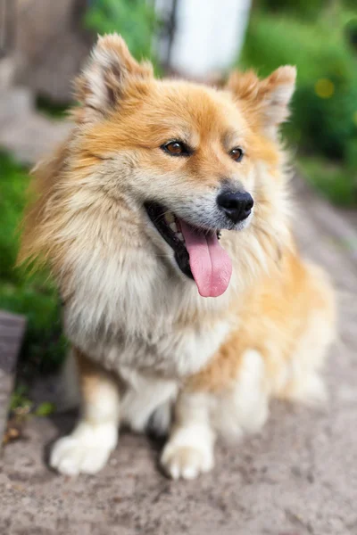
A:
<svg viewBox="0 0 357 535">
<path fill-rule="evenodd" d="M 220 247 L 217 236 L 206 235 L 179 220 L 189 254 L 192 275 L 203 297 L 218 297 L 226 292 L 232 275 L 232 263 Z"/>
</svg>

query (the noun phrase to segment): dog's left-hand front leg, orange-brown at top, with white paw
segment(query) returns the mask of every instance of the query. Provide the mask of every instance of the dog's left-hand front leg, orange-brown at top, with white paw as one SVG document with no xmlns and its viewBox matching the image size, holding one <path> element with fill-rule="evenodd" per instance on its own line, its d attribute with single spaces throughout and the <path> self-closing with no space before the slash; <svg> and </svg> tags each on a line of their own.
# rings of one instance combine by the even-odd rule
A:
<svg viewBox="0 0 357 535">
<path fill-rule="evenodd" d="M 79 351 L 82 412 L 71 435 L 57 440 L 50 465 L 68 475 L 96 473 L 106 464 L 118 440 L 119 389 L 115 380 Z"/>
</svg>

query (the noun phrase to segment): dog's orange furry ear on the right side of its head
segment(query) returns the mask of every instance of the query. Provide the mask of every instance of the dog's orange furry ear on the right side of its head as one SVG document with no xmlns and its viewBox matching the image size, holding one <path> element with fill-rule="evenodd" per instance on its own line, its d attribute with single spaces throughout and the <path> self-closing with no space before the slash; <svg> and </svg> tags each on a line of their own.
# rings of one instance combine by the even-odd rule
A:
<svg viewBox="0 0 357 535">
<path fill-rule="evenodd" d="M 270 136 L 276 136 L 278 125 L 289 116 L 289 103 L 295 90 L 296 69 L 279 67 L 268 78 L 260 80 L 253 70 L 233 72 L 227 88 L 243 104 L 251 118 Z"/>
</svg>

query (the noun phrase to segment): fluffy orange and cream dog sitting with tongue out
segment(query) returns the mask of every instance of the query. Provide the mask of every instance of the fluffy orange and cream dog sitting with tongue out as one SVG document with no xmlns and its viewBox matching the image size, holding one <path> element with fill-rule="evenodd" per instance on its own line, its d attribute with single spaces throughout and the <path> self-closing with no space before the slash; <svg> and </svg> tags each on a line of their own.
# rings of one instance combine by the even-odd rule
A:
<svg viewBox="0 0 357 535">
<path fill-rule="evenodd" d="M 270 397 L 323 397 L 333 293 L 296 251 L 278 143 L 294 86 L 293 67 L 222 90 L 156 80 L 99 39 L 71 137 L 36 169 L 21 250 L 52 268 L 79 367 L 60 472 L 97 472 L 119 424 L 151 424 L 170 433 L 167 473 L 194 478 L 218 433 L 262 426 Z"/>
</svg>

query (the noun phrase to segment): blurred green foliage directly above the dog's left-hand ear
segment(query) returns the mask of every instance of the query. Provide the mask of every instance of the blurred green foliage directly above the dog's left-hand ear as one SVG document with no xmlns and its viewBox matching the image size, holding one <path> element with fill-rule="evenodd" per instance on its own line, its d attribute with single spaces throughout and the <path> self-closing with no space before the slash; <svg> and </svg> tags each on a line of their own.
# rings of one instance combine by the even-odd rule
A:
<svg viewBox="0 0 357 535">
<path fill-rule="evenodd" d="M 130 52 L 141 60 L 150 57 L 158 20 L 154 4 L 143 0 L 95 0 L 89 8 L 85 24 L 99 34 L 119 33 Z"/>
</svg>

